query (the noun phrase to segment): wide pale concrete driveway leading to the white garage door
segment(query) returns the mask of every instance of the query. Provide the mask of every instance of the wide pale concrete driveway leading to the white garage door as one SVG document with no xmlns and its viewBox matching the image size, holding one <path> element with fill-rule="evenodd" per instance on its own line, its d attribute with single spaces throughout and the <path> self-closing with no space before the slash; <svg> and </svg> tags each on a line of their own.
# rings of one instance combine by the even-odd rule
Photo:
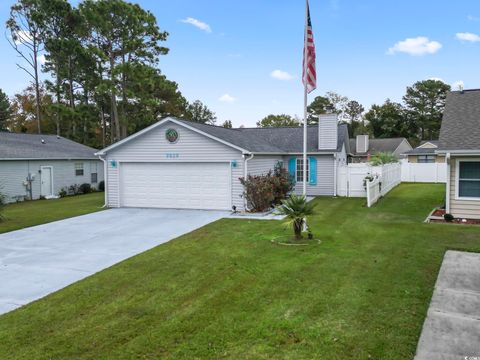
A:
<svg viewBox="0 0 480 360">
<path fill-rule="evenodd" d="M 1 234 L 0 314 L 228 214 L 111 209 Z"/>
</svg>

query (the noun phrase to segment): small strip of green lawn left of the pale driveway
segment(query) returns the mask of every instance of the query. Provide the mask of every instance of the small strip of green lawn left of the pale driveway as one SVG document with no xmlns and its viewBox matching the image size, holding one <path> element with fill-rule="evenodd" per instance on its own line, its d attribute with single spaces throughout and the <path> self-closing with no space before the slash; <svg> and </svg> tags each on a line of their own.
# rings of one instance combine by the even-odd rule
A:
<svg viewBox="0 0 480 360">
<path fill-rule="evenodd" d="M 103 193 L 56 200 L 25 201 L 7 205 L 0 221 L 0 234 L 102 210 Z M 1 346 L 1 345 L 0 345 Z"/>
</svg>

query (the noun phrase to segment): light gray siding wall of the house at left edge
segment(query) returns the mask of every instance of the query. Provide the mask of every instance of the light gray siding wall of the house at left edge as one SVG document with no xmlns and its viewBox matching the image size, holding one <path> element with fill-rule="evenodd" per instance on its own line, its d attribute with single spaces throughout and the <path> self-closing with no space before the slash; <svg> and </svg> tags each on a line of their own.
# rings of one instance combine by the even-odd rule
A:
<svg viewBox="0 0 480 360">
<path fill-rule="evenodd" d="M 83 163 L 83 176 L 75 176 L 75 164 Z M 53 194 L 57 195 L 64 187 L 74 184 L 89 183 L 98 187 L 103 180 L 103 164 L 98 160 L 4 160 L 0 161 L 0 192 L 7 196 L 7 201 L 15 201 L 16 196 L 28 196 L 23 182 L 28 173 L 35 175 L 32 183 L 33 199 L 40 197 L 40 169 L 51 166 L 53 173 Z M 95 170 L 96 168 L 96 170 Z M 91 183 L 92 172 L 97 172 L 97 183 Z"/>
</svg>

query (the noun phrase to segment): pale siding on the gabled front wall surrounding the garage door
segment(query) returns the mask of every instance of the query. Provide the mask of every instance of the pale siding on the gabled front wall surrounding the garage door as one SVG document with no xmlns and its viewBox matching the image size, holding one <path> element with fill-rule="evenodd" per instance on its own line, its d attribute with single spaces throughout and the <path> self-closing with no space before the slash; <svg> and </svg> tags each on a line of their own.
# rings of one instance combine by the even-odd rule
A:
<svg viewBox="0 0 480 360">
<path fill-rule="evenodd" d="M 165 138 L 165 130 L 177 130 L 179 139 L 172 144 Z M 174 156 L 174 157 L 172 157 Z M 122 162 L 234 162 L 232 164 L 232 204 L 243 209 L 243 187 L 239 181 L 244 176 L 244 159 L 240 150 L 214 139 L 167 122 L 151 131 L 112 149 L 107 160 L 107 201 L 110 207 L 120 207 L 120 183 Z M 115 161 L 117 166 L 112 166 Z M 212 179 L 215 181 L 215 179 Z M 174 206 L 174 204 L 172 204 Z"/>
</svg>

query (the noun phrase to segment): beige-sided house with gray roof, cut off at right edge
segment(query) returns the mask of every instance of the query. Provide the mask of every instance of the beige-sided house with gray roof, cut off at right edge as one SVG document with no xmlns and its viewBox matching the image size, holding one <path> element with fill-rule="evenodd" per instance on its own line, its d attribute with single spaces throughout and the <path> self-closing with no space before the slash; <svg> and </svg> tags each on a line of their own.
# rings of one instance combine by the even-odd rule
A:
<svg viewBox="0 0 480 360">
<path fill-rule="evenodd" d="M 446 211 L 480 219 L 480 89 L 447 95 L 436 153 L 447 159 Z"/>
</svg>

